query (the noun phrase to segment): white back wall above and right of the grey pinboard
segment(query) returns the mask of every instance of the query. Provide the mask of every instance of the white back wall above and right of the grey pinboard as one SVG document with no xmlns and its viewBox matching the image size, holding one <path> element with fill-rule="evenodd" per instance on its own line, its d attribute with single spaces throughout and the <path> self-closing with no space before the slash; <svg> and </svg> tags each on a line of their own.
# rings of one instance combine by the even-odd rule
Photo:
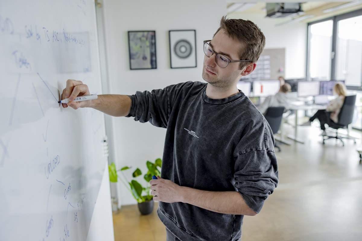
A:
<svg viewBox="0 0 362 241">
<path fill-rule="evenodd" d="M 265 48 L 285 48 L 285 78 L 306 77 L 307 61 L 307 23 L 288 23 L 284 18 L 265 18 L 265 14 L 232 13 L 230 18 L 251 20 L 265 35 Z"/>
</svg>

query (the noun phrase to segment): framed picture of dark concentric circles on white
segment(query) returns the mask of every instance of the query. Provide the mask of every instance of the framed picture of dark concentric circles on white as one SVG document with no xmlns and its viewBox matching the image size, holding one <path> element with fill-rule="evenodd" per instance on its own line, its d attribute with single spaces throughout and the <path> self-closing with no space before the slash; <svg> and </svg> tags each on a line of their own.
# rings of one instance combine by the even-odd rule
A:
<svg viewBox="0 0 362 241">
<path fill-rule="evenodd" d="M 170 30 L 171 68 L 195 68 L 196 65 L 196 31 Z"/>
</svg>

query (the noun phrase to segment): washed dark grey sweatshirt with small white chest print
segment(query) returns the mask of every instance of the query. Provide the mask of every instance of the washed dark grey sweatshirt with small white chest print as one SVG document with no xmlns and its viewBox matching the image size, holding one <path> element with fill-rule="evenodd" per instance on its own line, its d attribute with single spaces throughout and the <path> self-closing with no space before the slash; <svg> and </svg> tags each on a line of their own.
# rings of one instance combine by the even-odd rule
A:
<svg viewBox="0 0 362 241">
<path fill-rule="evenodd" d="M 239 92 L 206 96 L 206 83 L 186 82 L 131 95 L 128 117 L 167 128 L 161 177 L 207 191 L 238 191 L 255 212 L 278 184 L 271 129 Z M 225 200 L 228 202 L 228 200 Z M 160 220 L 182 241 L 236 241 L 244 215 L 187 203 L 159 202 Z"/>
</svg>

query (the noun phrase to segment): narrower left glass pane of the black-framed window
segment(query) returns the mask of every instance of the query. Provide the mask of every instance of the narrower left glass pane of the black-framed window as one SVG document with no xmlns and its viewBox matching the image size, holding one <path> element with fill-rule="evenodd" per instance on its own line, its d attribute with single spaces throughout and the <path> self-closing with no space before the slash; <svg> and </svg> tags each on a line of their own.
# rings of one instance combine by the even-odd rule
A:
<svg viewBox="0 0 362 241">
<path fill-rule="evenodd" d="M 331 78 L 332 32 L 333 20 L 309 26 L 309 77 L 311 79 Z"/>
</svg>

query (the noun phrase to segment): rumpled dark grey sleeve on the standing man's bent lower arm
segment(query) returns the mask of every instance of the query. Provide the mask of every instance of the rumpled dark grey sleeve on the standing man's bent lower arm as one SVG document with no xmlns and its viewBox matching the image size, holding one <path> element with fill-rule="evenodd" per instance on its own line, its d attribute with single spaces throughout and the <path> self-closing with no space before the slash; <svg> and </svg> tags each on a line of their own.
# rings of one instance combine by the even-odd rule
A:
<svg viewBox="0 0 362 241">
<path fill-rule="evenodd" d="M 246 129 L 235 161 L 235 188 L 258 213 L 278 185 L 278 165 L 273 135 L 266 120 L 250 124 Z"/>
</svg>

